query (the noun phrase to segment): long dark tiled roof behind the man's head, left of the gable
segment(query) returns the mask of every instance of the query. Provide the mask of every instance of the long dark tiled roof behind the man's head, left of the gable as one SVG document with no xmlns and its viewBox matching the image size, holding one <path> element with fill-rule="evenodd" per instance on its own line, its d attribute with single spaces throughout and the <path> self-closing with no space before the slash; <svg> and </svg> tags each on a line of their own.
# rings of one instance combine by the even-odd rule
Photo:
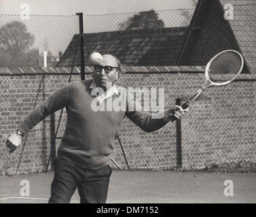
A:
<svg viewBox="0 0 256 217">
<path fill-rule="evenodd" d="M 90 65 L 88 53 L 113 54 L 122 64 L 131 66 L 172 66 L 181 49 L 187 27 L 158 30 L 113 31 L 84 34 L 85 65 Z M 72 66 L 79 35 L 74 35 L 58 66 Z M 75 66 L 80 64 L 77 48 Z"/>
</svg>

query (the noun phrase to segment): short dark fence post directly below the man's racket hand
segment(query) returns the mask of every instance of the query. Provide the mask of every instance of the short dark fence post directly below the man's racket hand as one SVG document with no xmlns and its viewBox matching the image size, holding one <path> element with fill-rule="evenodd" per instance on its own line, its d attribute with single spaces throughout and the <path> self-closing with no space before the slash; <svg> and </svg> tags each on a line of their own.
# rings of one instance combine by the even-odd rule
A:
<svg viewBox="0 0 256 217">
<path fill-rule="evenodd" d="M 176 99 L 176 104 L 178 106 L 181 105 L 181 99 Z M 177 159 L 177 167 L 182 167 L 182 149 L 181 149 L 181 119 L 176 119 L 176 159 Z"/>
</svg>

